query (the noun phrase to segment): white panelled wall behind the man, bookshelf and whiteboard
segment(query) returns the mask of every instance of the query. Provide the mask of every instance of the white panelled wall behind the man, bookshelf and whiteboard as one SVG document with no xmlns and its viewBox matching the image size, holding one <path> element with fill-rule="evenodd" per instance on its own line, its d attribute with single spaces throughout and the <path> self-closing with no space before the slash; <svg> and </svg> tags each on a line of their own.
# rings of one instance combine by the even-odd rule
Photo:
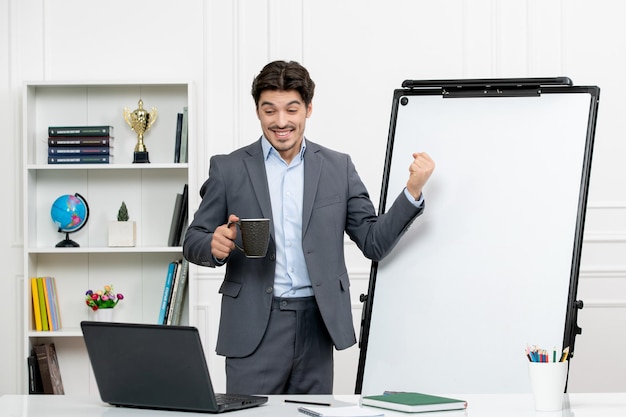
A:
<svg viewBox="0 0 626 417">
<path fill-rule="evenodd" d="M 0 0 L 5 146 L 0 174 L 6 178 L 0 206 L 5 219 L 0 355 L 7 358 L 0 394 L 20 392 L 24 372 L 16 345 L 23 322 L 22 83 L 193 81 L 198 114 L 204 116 L 195 155 L 202 175 L 190 183 L 194 205 L 209 156 L 258 137 L 250 83 L 273 59 L 294 59 L 309 68 L 317 91 L 308 136 L 349 152 L 374 202 L 391 96 L 404 79 L 566 75 L 577 85 L 599 85 L 578 297 L 585 302 L 579 316 L 583 334 L 577 339 L 570 391 L 625 391 L 626 359 L 618 354 L 626 348 L 625 12 L 626 6 L 610 0 Z M 541 204 L 532 196 L 520 198 Z M 358 295 L 366 291 L 369 262 L 346 244 L 358 322 Z M 200 291 L 210 297 L 198 305 L 197 321 L 210 352 L 220 279 L 219 270 L 199 271 Z M 355 348 L 337 355 L 338 392 L 352 392 L 357 357 Z M 210 362 L 216 374 L 222 372 L 221 358 L 213 355 Z M 222 384 L 218 376 L 216 385 Z"/>
</svg>

